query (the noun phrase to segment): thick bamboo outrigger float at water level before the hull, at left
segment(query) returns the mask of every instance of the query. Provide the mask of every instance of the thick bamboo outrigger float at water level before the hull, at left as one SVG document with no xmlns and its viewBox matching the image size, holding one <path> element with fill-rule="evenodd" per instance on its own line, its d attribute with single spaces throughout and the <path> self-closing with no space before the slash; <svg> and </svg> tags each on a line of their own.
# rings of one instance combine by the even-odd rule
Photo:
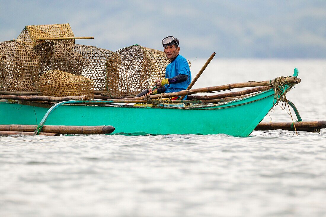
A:
<svg viewBox="0 0 326 217">
<path fill-rule="evenodd" d="M 9 124 L 0 125 L 0 131 L 24 131 L 33 132 L 37 125 L 24 124 Z M 43 133 L 59 133 L 59 134 L 109 134 L 115 130 L 113 126 L 65 126 L 65 125 L 44 125 L 42 127 Z M 33 135 L 32 133 L 32 135 Z"/>
</svg>

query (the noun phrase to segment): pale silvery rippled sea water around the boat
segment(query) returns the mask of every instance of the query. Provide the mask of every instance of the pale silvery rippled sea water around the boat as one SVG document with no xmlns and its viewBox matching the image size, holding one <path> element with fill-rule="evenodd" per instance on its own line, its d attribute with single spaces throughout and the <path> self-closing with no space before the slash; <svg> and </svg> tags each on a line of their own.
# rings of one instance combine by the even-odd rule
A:
<svg viewBox="0 0 326 217">
<path fill-rule="evenodd" d="M 190 60 L 195 77 L 206 60 Z M 288 100 L 304 121 L 326 120 L 326 60 L 216 58 L 194 88 L 295 67 Z M 263 121 L 289 113 L 275 106 Z M 326 131 L 1 136 L 0 175 L 0 216 L 326 216 Z"/>
</svg>

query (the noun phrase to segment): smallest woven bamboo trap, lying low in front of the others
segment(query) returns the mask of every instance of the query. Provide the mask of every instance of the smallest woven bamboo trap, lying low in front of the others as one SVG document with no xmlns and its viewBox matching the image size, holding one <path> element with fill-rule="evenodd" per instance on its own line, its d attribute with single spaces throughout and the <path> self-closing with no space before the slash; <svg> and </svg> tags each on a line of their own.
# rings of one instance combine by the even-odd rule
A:
<svg viewBox="0 0 326 217">
<path fill-rule="evenodd" d="M 45 96 L 88 95 L 94 99 L 94 81 L 81 75 L 50 70 L 40 76 L 39 89 Z"/>
</svg>

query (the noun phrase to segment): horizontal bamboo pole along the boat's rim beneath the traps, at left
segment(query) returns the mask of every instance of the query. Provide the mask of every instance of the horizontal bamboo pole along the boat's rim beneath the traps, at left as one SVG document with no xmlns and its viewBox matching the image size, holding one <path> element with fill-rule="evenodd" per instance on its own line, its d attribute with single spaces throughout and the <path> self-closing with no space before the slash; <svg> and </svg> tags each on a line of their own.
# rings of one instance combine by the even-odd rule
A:
<svg viewBox="0 0 326 217">
<path fill-rule="evenodd" d="M 46 101 L 67 101 L 67 100 L 88 100 L 88 95 L 82 96 L 16 96 L 16 95 L 0 95 L 0 99 L 15 100 L 46 100 Z"/>
</svg>

